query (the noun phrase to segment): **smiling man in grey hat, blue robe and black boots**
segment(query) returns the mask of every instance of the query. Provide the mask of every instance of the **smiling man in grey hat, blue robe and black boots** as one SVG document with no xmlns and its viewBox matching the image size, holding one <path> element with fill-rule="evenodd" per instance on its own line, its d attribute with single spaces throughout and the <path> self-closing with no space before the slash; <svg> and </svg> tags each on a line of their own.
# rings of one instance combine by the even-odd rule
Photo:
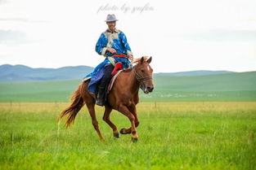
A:
<svg viewBox="0 0 256 170">
<path fill-rule="evenodd" d="M 100 63 L 92 73 L 86 76 L 86 79 L 91 77 L 88 85 L 88 91 L 96 94 L 97 85 L 97 105 L 105 104 L 106 86 L 110 82 L 111 72 L 115 68 L 115 63 L 122 63 L 123 68 L 132 67 L 130 60 L 133 59 L 132 50 L 128 45 L 128 41 L 123 32 L 115 28 L 115 15 L 107 15 L 106 24 L 108 28 L 97 41 L 95 50 L 98 54 L 104 55 L 106 59 Z"/>
</svg>

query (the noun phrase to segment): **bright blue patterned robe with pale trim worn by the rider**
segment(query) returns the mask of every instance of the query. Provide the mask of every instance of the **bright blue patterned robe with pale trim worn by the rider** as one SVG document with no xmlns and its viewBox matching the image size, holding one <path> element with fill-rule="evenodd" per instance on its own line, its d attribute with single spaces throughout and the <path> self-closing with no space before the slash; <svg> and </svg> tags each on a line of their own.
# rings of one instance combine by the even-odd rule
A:
<svg viewBox="0 0 256 170">
<path fill-rule="evenodd" d="M 115 65 L 115 63 L 123 63 L 123 68 L 130 68 L 132 64 L 126 58 L 114 57 L 109 51 L 106 51 L 107 48 L 114 48 L 116 50 L 115 54 L 132 54 L 132 50 L 128 45 L 128 41 L 123 32 L 115 29 L 114 33 L 111 33 L 110 30 L 101 33 L 101 37 L 98 39 L 95 50 L 98 54 L 104 55 L 106 59 L 97 65 L 94 68 L 93 72 L 84 77 L 84 80 L 91 78 L 88 91 L 92 94 L 96 93 L 97 83 L 101 81 L 102 76 L 104 75 L 104 68 L 110 64 Z"/>
</svg>

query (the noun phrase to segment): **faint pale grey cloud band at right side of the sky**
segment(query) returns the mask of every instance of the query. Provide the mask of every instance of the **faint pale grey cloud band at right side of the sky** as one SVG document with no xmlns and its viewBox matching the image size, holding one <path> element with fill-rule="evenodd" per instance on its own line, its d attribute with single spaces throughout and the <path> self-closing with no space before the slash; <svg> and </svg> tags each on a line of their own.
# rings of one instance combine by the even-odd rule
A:
<svg viewBox="0 0 256 170">
<path fill-rule="evenodd" d="M 256 30 L 214 29 L 202 32 L 172 35 L 191 41 L 256 41 Z"/>
</svg>

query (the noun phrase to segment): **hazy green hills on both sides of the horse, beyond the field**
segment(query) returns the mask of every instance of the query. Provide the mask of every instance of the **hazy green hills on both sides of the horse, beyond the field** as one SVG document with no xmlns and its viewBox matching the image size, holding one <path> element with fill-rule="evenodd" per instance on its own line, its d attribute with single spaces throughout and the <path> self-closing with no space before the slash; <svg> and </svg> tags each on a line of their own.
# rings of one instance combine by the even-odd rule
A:
<svg viewBox="0 0 256 170">
<path fill-rule="evenodd" d="M 80 80 L 0 83 L 0 102 L 68 102 Z M 141 101 L 256 101 L 256 72 L 154 76 Z"/>
</svg>

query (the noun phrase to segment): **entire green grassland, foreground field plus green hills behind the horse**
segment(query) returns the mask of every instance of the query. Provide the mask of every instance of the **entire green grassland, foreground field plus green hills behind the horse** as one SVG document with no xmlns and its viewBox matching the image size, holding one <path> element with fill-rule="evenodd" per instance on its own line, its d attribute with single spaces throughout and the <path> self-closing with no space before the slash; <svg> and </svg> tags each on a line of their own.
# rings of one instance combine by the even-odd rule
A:
<svg viewBox="0 0 256 170">
<path fill-rule="evenodd" d="M 139 141 L 112 137 L 97 107 L 70 129 L 56 118 L 80 81 L 0 83 L 0 169 L 256 169 L 256 72 L 155 76 L 141 94 Z M 121 128 L 128 118 L 113 111 Z"/>
</svg>

